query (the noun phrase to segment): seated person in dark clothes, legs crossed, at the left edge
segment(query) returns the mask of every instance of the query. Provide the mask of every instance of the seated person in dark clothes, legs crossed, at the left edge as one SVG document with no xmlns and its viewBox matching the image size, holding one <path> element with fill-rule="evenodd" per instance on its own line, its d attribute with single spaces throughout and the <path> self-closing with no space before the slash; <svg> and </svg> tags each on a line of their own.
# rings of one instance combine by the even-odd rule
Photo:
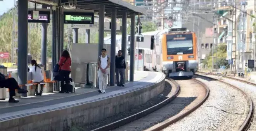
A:
<svg viewBox="0 0 256 131">
<path fill-rule="evenodd" d="M 14 78 L 8 78 L 8 76 L 3 75 L 0 73 L 0 88 L 8 88 L 9 91 L 9 102 L 10 103 L 17 103 L 19 101 L 16 101 L 13 97 L 16 95 L 15 90 L 18 90 L 19 94 L 25 94 L 28 91 L 25 89 L 21 89 L 17 83 L 17 81 Z"/>
</svg>

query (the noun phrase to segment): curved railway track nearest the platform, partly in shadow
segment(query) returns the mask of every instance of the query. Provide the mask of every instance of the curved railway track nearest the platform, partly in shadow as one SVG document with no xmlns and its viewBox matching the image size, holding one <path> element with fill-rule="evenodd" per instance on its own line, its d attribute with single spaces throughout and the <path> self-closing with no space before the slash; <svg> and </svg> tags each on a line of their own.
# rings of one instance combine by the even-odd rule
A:
<svg viewBox="0 0 256 131">
<path fill-rule="evenodd" d="M 166 79 L 168 79 L 168 83 L 171 84 L 172 90 L 175 90 L 175 92 L 167 99 L 155 106 L 141 111 L 140 113 L 134 114 L 114 123 L 107 124 L 100 128 L 93 129 L 92 131 L 128 131 L 144 130 L 147 128 L 149 128 L 147 131 L 159 131 L 187 116 L 189 113 L 201 106 L 209 96 L 208 86 L 196 79 L 177 81 L 169 78 Z M 166 118 L 164 118 L 168 118 L 167 121 L 164 121 L 163 118 L 158 117 L 164 114 L 168 114 Z M 145 121 L 140 121 L 141 119 L 144 119 Z M 164 122 L 157 124 L 161 121 Z M 145 124 L 144 126 L 141 125 L 142 122 Z M 133 127 L 133 129 L 130 127 Z"/>
</svg>

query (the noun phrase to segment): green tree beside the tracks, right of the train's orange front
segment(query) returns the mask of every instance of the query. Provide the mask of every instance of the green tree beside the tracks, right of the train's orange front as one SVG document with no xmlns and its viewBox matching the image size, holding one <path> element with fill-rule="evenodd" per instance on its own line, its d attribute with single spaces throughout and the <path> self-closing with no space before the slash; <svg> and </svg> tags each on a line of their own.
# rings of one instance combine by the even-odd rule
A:
<svg viewBox="0 0 256 131">
<path fill-rule="evenodd" d="M 214 49 L 216 51 L 216 49 Z M 215 52 L 214 51 L 214 52 Z M 217 51 L 217 66 L 220 68 L 220 66 L 226 66 L 228 67 L 228 61 L 227 58 L 227 45 L 226 44 L 219 44 L 218 45 L 218 51 Z M 214 53 L 214 56 L 216 56 L 216 53 Z M 214 58 L 214 62 L 216 62 L 216 59 Z M 209 53 L 209 55 L 206 56 L 204 60 L 202 60 L 202 63 L 204 65 L 207 65 L 208 68 L 211 68 L 212 66 L 212 50 Z"/>
</svg>

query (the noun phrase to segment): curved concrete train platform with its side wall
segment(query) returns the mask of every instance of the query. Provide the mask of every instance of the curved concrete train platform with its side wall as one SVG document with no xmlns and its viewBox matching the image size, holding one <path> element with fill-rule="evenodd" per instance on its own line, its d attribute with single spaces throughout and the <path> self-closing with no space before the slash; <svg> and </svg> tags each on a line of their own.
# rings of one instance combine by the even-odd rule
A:
<svg viewBox="0 0 256 131">
<path fill-rule="evenodd" d="M 65 121 L 67 125 L 99 121 L 157 96 L 164 89 L 164 79 L 160 72 L 136 71 L 134 82 L 107 87 L 105 94 L 76 87 L 75 93 L 22 97 L 19 103 L 0 101 L 0 130 L 62 130 Z"/>
</svg>

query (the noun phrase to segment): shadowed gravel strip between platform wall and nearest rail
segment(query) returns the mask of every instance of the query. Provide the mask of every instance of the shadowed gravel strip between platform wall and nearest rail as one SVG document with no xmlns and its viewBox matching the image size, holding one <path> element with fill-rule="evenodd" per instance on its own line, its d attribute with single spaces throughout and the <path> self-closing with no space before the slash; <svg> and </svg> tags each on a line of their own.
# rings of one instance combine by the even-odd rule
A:
<svg viewBox="0 0 256 131">
<path fill-rule="evenodd" d="M 165 99 L 167 99 L 168 97 L 166 97 L 166 96 L 170 92 L 171 92 L 171 86 L 170 86 L 170 84 L 166 83 L 163 92 L 161 92 L 156 97 L 150 99 L 149 101 L 145 102 L 144 104 L 141 104 L 139 106 L 131 108 L 131 109 L 127 110 L 127 111 L 115 114 L 114 116 L 110 116 L 108 118 L 105 118 L 105 119 L 103 119 L 101 121 L 98 121 L 98 122 L 95 122 L 95 123 L 85 124 L 85 125 L 82 125 L 82 126 L 72 126 L 70 128 L 70 131 L 76 131 L 76 130 L 79 130 L 79 131 L 90 131 L 92 129 L 99 128 L 101 126 L 110 124 L 112 122 L 118 121 L 118 120 L 126 118 L 128 116 L 131 116 L 133 114 L 139 113 L 140 111 L 148 109 L 149 107 L 152 107 L 152 106 L 154 106 L 154 105 L 164 101 Z"/>
</svg>

